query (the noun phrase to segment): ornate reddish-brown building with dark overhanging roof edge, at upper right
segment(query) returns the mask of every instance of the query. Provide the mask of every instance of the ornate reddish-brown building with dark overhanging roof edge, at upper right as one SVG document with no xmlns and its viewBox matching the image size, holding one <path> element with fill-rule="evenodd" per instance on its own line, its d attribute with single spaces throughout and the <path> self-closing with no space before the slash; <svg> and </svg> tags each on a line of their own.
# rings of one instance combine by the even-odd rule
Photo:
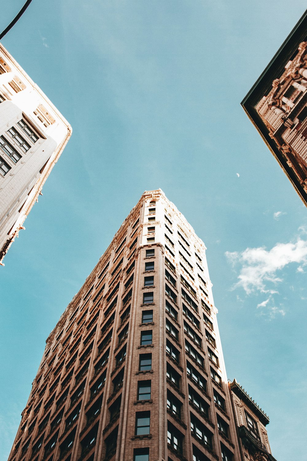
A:
<svg viewBox="0 0 307 461">
<path fill-rule="evenodd" d="M 307 13 L 242 105 L 307 206 Z"/>
</svg>

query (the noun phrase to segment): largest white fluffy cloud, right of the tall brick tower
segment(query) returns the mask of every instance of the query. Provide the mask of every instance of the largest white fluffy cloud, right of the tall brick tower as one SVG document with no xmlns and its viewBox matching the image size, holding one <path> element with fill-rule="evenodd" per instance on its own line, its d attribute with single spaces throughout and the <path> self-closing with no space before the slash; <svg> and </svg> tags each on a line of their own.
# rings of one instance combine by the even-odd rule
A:
<svg viewBox="0 0 307 461">
<path fill-rule="evenodd" d="M 276 286 L 282 282 L 280 272 L 290 263 L 299 264 L 299 272 L 307 265 L 307 241 L 298 238 L 295 243 L 277 243 L 271 250 L 266 247 L 246 248 L 241 253 L 226 252 L 228 260 L 241 266 L 238 282 L 234 288 L 242 287 L 249 295 L 255 291 L 277 293 L 268 284 Z"/>
</svg>

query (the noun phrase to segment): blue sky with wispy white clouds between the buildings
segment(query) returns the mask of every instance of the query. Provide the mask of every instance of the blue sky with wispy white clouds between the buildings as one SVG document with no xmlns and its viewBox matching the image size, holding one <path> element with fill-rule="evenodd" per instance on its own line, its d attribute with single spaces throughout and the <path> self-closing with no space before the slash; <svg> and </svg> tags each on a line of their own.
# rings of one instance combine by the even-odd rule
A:
<svg viewBox="0 0 307 461">
<path fill-rule="evenodd" d="M 40 0 L 2 40 L 73 135 L 1 269 L 1 461 L 46 337 L 156 188 L 208 248 L 228 377 L 270 416 L 274 457 L 306 460 L 306 207 L 240 106 L 305 8 Z"/>
</svg>

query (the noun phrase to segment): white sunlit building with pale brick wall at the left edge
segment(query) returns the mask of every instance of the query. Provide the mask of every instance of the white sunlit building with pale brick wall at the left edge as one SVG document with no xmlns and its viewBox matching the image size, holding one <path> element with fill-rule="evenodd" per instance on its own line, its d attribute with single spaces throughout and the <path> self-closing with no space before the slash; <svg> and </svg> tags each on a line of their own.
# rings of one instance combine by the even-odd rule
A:
<svg viewBox="0 0 307 461">
<path fill-rule="evenodd" d="M 0 44 L 0 264 L 70 135 L 65 118 Z"/>
</svg>

